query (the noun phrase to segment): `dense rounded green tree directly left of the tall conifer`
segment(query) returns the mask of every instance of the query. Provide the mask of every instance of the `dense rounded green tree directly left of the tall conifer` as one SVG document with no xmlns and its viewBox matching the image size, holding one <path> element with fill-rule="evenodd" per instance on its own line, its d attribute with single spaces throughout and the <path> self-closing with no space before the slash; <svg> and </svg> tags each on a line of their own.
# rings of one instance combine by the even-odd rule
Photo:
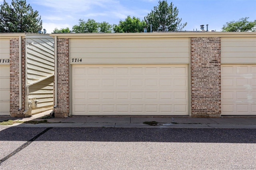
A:
<svg viewBox="0 0 256 170">
<path fill-rule="evenodd" d="M 144 27 L 146 27 L 146 22 L 140 21 L 140 18 L 130 17 L 122 21 L 119 24 L 114 24 L 114 32 L 143 32 Z"/>
</svg>

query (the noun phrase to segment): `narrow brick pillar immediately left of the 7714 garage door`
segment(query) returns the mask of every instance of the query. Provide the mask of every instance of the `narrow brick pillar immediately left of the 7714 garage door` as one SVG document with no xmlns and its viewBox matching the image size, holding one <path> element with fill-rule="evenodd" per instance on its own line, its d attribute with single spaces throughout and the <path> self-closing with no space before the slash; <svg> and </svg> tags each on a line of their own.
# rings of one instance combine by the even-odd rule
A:
<svg viewBox="0 0 256 170">
<path fill-rule="evenodd" d="M 68 117 L 69 115 L 69 40 L 58 38 L 57 40 L 57 107 L 54 110 L 55 117 Z M 56 83 L 56 82 L 55 82 Z"/>
</svg>

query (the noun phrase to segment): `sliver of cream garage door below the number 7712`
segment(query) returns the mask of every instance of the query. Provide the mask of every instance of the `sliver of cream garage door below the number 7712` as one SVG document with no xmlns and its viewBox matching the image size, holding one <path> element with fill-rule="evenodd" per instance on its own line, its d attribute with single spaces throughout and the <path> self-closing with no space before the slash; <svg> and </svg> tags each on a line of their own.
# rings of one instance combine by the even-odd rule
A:
<svg viewBox="0 0 256 170">
<path fill-rule="evenodd" d="M 10 66 L 0 65 L 0 116 L 10 115 Z"/>
</svg>

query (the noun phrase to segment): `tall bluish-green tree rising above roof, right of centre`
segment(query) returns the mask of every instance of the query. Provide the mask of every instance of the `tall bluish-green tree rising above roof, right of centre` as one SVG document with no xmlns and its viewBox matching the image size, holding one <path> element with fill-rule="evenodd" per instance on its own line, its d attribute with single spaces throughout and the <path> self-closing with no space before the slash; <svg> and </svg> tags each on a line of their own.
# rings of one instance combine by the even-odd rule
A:
<svg viewBox="0 0 256 170">
<path fill-rule="evenodd" d="M 170 6 L 167 0 L 159 1 L 158 6 L 154 6 L 154 10 L 144 17 L 144 20 L 150 30 L 152 24 L 152 31 L 181 31 L 187 23 L 181 24 L 182 18 L 178 18 L 179 10 Z"/>
</svg>

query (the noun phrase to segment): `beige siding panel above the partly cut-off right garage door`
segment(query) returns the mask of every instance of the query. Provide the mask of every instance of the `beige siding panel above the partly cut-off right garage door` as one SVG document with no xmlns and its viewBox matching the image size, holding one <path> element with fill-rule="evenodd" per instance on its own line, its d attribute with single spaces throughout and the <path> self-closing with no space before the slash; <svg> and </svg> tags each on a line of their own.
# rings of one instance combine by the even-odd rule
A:
<svg viewBox="0 0 256 170">
<path fill-rule="evenodd" d="M 256 63 L 256 37 L 222 37 L 221 63 Z"/>
</svg>

